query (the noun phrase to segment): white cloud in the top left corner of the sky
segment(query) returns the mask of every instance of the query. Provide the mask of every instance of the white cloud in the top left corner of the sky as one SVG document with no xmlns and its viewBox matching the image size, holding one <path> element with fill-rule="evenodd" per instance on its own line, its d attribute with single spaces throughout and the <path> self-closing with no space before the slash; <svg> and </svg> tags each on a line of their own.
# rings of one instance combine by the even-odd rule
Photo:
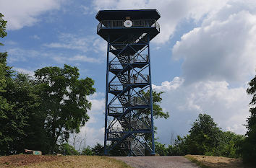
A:
<svg viewBox="0 0 256 168">
<path fill-rule="evenodd" d="M 4 14 L 8 30 L 19 30 L 38 22 L 40 14 L 60 9 L 63 0 L 0 0 L 0 11 Z"/>
</svg>

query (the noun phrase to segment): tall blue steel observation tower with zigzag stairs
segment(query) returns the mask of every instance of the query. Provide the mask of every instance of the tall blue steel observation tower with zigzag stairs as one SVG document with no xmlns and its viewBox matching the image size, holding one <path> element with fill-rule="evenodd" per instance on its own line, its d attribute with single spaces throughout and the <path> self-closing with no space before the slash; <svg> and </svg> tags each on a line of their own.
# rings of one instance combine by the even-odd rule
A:
<svg viewBox="0 0 256 168">
<path fill-rule="evenodd" d="M 97 34 L 108 42 L 105 154 L 155 154 L 150 40 L 160 32 L 156 9 L 101 10 Z"/>
</svg>

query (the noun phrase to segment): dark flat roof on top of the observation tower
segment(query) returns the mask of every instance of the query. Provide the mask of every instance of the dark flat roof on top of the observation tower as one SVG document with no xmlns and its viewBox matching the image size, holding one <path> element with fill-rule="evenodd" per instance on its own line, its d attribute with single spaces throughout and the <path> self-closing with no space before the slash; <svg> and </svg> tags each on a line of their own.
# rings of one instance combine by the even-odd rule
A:
<svg viewBox="0 0 256 168">
<path fill-rule="evenodd" d="M 131 19 L 155 19 L 161 16 L 156 9 L 139 9 L 139 10 L 101 10 L 96 15 L 98 21 L 102 20 L 122 20 L 125 17 Z"/>
</svg>

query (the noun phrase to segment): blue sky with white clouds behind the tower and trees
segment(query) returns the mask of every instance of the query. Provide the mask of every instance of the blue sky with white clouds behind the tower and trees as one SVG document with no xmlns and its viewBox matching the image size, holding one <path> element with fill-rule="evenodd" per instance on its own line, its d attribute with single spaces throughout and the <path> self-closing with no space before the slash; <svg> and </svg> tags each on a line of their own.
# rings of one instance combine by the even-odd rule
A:
<svg viewBox="0 0 256 168">
<path fill-rule="evenodd" d="M 0 0 L 7 37 L 0 52 L 14 70 L 77 66 L 95 80 L 86 145 L 103 143 L 106 41 L 97 35 L 101 9 L 158 9 L 161 33 L 150 43 L 153 89 L 170 117 L 155 120 L 159 142 L 185 136 L 200 113 L 223 131 L 244 134 L 247 83 L 256 68 L 255 0 Z M 77 137 L 78 137 L 77 136 Z"/>
</svg>

